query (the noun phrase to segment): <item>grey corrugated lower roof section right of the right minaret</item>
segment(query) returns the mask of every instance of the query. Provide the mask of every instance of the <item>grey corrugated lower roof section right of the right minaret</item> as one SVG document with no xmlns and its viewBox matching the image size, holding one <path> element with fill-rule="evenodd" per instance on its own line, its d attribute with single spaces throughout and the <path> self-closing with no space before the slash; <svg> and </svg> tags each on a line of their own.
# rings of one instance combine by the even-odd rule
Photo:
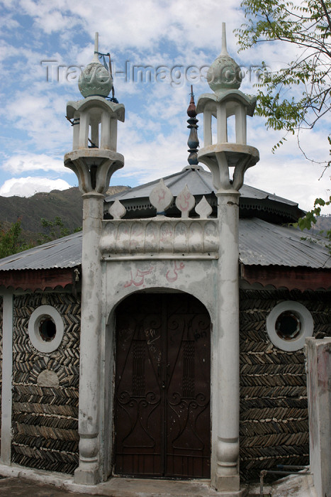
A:
<svg viewBox="0 0 331 497">
<path fill-rule="evenodd" d="M 247 266 L 331 268 L 327 240 L 320 236 L 257 218 L 239 224 L 240 261 Z"/>
</svg>

